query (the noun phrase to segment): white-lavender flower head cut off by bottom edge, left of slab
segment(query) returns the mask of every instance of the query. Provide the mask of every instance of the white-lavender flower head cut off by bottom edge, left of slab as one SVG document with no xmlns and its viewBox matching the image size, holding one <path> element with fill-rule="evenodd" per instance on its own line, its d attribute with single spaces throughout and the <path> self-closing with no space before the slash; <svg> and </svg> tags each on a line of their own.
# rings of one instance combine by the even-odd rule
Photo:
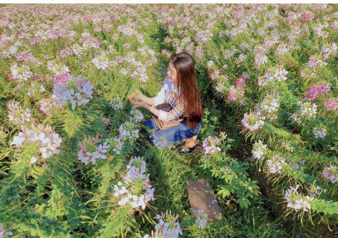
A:
<svg viewBox="0 0 338 238">
<path fill-rule="evenodd" d="M 151 234 L 146 234 L 143 238 L 178 238 L 183 234 L 180 223 L 177 221 L 178 214 L 172 215 L 171 211 L 166 210 L 164 214 L 162 212 L 162 215 L 157 214 L 155 219 L 158 220 L 155 232 L 152 231 Z"/>
</svg>

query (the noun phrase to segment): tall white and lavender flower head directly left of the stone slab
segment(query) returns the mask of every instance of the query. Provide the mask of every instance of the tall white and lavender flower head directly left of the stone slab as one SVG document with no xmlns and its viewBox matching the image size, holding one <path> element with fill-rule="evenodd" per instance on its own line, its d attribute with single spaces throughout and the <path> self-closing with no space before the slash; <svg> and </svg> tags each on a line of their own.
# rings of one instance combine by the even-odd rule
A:
<svg viewBox="0 0 338 238">
<path fill-rule="evenodd" d="M 154 200 L 154 190 L 145 175 L 146 164 L 142 157 L 134 157 L 130 160 L 123 181 L 114 186 L 114 197 L 119 199 L 118 205 L 130 205 L 131 208 L 145 209 L 147 202 Z"/>
</svg>

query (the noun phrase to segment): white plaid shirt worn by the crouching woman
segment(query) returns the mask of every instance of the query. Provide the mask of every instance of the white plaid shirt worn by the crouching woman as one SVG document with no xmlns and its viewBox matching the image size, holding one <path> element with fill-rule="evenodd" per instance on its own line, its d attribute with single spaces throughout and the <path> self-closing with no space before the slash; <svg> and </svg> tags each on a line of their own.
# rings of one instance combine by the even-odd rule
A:
<svg viewBox="0 0 338 238">
<path fill-rule="evenodd" d="M 179 117 L 182 116 L 184 113 L 184 106 L 182 103 L 182 99 L 178 99 L 179 93 L 181 92 L 180 90 L 181 87 L 179 87 L 178 89 L 174 89 L 174 83 L 169 81 L 167 77 L 165 77 L 162 89 L 154 97 L 155 106 L 167 102 L 171 104 L 172 110 L 170 110 L 169 112 L 159 110 L 159 120 L 163 120 L 166 122 L 181 120 L 179 119 Z"/>
</svg>

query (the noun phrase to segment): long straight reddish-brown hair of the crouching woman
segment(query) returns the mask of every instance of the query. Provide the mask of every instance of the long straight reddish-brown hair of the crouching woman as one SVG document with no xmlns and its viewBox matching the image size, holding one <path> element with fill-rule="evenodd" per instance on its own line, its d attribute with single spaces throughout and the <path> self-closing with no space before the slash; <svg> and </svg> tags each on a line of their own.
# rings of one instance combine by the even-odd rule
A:
<svg viewBox="0 0 338 238">
<path fill-rule="evenodd" d="M 181 52 L 172 55 L 170 60 L 176 68 L 178 86 L 181 87 L 179 98 L 186 103 L 187 125 L 195 129 L 203 117 L 203 109 L 197 85 L 194 58 L 186 52 Z"/>
</svg>

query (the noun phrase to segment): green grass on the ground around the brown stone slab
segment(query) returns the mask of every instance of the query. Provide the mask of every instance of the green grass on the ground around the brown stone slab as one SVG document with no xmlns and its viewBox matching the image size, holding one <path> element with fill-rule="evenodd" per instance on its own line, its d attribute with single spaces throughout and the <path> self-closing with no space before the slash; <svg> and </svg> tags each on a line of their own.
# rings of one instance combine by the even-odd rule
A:
<svg viewBox="0 0 338 238">
<path fill-rule="evenodd" d="M 205 178 L 203 170 L 198 165 L 190 165 L 191 155 L 179 155 L 175 149 L 160 149 L 149 144 L 140 150 L 144 152 L 150 180 L 156 187 L 155 201 L 151 203 L 153 210 L 148 209 L 150 217 L 170 209 L 180 214 L 179 221 L 193 218 L 187 199 L 185 181 Z M 213 181 L 210 181 L 213 182 Z M 283 229 L 281 221 L 270 222 L 269 211 L 262 206 L 262 196 L 254 201 L 248 209 L 240 209 L 237 204 L 221 207 L 223 219 L 209 222 L 201 230 L 197 225 L 183 226 L 182 237 L 223 238 L 223 237 L 290 237 Z M 142 227 L 142 225 L 141 225 Z M 150 232 L 153 227 L 146 226 L 144 231 Z"/>
</svg>

